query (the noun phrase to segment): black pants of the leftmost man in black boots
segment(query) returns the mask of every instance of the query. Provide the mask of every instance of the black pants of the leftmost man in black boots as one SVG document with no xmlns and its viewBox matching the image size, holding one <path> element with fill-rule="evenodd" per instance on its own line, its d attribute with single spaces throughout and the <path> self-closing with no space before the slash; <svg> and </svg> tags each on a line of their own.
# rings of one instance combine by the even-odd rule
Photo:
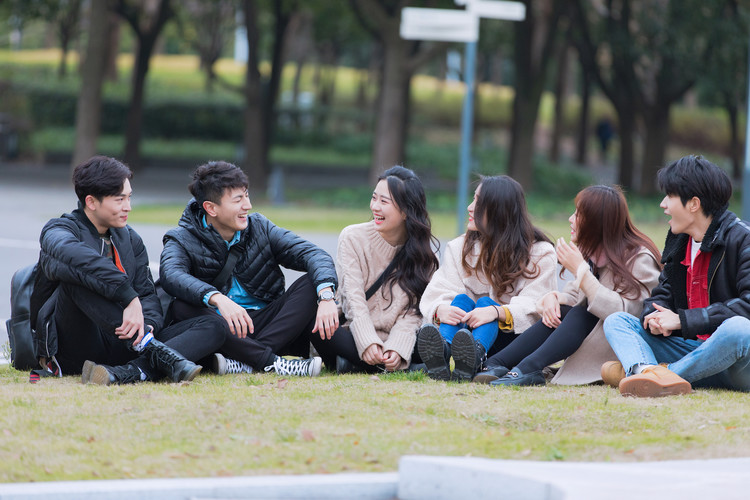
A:
<svg viewBox="0 0 750 500">
<path fill-rule="evenodd" d="M 57 293 L 56 359 L 64 374 L 81 373 L 86 360 L 112 366 L 135 361 L 149 378 L 161 378 L 138 352 L 129 349 L 132 340 L 121 340 L 115 335 L 115 328 L 122 324 L 122 306 L 87 288 L 67 283 L 62 283 Z M 187 359 L 198 361 L 224 342 L 222 323 L 226 322 L 221 318 L 195 318 L 164 328 L 155 337 Z"/>
</svg>

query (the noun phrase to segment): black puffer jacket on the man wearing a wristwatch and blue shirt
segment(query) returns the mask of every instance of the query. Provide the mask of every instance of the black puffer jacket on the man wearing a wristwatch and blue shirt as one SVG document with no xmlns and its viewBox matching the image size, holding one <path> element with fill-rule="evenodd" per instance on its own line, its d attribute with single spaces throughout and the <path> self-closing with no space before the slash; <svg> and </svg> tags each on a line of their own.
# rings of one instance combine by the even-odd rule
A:
<svg viewBox="0 0 750 500">
<path fill-rule="evenodd" d="M 179 227 L 164 235 L 159 276 L 164 290 L 190 304 L 203 305 L 206 293 L 216 290 L 210 283 L 227 260 L 229 249 L 221 235 L 202 224 L 203 212 L 190 200 L 180 218 Z M 279 266 L 307 272 L 317 287 L 336 285 L 336 268 L 327 252 L 286 229 L 274 225 L 258 213 L 248 217 L 248 226 L 238 245 L 244 251 L 234 267 L 233 276 L 249 294 L 271 302 L 284 293 L 284 274 Z M 226 293 L 231 280 L 224 289 Z"/>
</svg>

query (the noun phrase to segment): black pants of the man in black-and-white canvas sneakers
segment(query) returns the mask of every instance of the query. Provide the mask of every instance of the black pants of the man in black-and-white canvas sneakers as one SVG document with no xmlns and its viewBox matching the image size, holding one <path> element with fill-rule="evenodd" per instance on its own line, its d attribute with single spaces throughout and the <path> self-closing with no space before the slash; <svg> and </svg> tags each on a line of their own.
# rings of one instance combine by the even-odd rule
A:
<svg viewBox="0 0 750 500">
<path fill-rule="evenodd" d="M 308 334 L 315 327 L 318 312 L 317 293 L 310 277 L 304 275 L 287 289 L 278 299 L 263 309 L 248 310 L 253 320 L 254 332 L 244 339 L 232 335 L 227 322 L 212 308 L 197 307 L 182 300 L 172 304 L 176 321 L 197 316 L 221 319 L 224 325 L 224 342 L 218 352 L 242 361 L 262 371 L 272 365 L 277 354 L 308 357 L 310 341 Z"/>
</svg>

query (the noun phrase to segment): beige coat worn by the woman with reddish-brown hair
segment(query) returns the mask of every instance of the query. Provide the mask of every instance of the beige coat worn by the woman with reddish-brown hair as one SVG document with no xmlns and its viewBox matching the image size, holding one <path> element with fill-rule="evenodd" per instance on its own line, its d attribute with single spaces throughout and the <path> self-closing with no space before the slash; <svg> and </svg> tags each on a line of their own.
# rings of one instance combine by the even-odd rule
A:
<svg viewBox="0 0 750 500">
<path fill-rule="evenodd" d="M 599 279 L 596 279 L 585 262 L 578 267 L 575 280 L 569 281 L 562 292 L 551 292 L 557 295 L 560 304 L 569 306 L 586 304 L 586 309 L 599 318 L 599 322 L 583 341 L 581 347 L 565 360 L 552 379 L 553 384 L 578 385 L 599 382 L 602 379 L 602 364 L 606 361 L 617 360 L 617 356 L 604 337 L 604 320 L 610 314 L 619 311 L 639 316 L 643 309 L 643 301 L 659 282 L 659 263 L 646 248 L 641 247 L 631 259 L 631 263 L 633 276 L 647 288 L 641 287 L 638 297 L 626 298 L 614 291 L 612 271 L 606 264 L 599 268 Z M 541 303 L 541 300 L 537 303 L 537 310 L 540 314 Z"/>
</svg>

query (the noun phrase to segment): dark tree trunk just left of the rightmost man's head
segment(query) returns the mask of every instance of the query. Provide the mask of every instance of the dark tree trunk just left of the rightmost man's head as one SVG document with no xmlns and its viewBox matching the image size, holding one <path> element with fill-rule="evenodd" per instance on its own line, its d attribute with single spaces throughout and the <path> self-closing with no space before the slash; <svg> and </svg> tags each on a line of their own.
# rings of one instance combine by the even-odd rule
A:
<svg viewBox="0 0 750 500">
<path fill-rule="evenodd" d="M 666 99 L 659 100 L 644 113 L 646 144 L 643 149 L 639 189 L 641 194 L 653 194 L 657 191 L 656 172 L 664 166 L 664 157 L 669 142 L 670 104 Z"/>
</svg>

